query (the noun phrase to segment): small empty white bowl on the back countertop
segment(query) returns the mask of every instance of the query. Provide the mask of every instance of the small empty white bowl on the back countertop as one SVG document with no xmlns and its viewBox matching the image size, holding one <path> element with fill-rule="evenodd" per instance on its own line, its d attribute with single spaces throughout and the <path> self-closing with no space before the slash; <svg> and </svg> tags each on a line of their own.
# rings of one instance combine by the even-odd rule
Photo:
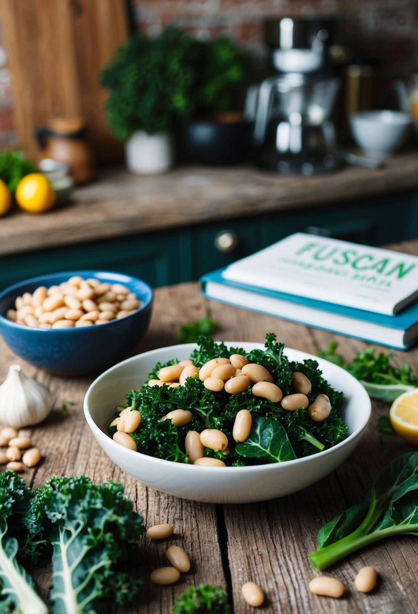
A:
<svg viewBox="0 0 418 614">
<path fill-rule="evenodd" d="M 360 111 L 349 117 L 351 135 L 367 155 L 386 158 L 405 144 L 412 116 L 402 111 Z"/>
</svg>

